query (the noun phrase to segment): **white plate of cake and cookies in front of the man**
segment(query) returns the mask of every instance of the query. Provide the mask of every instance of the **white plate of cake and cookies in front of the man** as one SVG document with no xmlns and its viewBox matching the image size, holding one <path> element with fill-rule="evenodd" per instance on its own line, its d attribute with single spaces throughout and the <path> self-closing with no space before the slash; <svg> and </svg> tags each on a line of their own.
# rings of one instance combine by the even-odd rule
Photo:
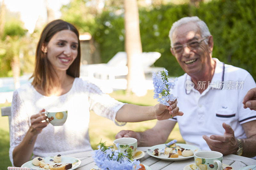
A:
<svg viewBox="0 0 256 170">
<path fill-rule="evenodd" d="M 196 146 L 193 146 L 193 145 L 187 145 L 187 144 L 179 144 L 179 143 L 176 143 L 177 146 L 180 146 L 184 149 L 190 149 L 192 150 L 194 153 L 196 151 L 201 151 L 200 148 L 196 147 Z M 166 145 L 165 144 L 160 144 L 160 145 L 155 145 L 155 146 L 151 146 L 150 148 L 148 149 L 151 149 L 151 151 L 154 151 L 156 148 L 159 148 L 159 149 L 162 149 L 162 148 L 165 148 Z M 189 159 L 189 158 L 194 158 L 194 155 L 192 156 L 188 156 L 188 157 L 184 157 L 182 155 L 179 155 L 179 158 L 168 158 L 166 156 L 164 156 L 164 154 L 161 154 L 160 156 L 155 156 L 155 155 L 152 155 L 152 152 L 150 152 L 149 150 L 147 150 L 147 153 L 150 155 L 150 156 L 153 156 L 155 158 L 158 158 L 158 159 L 163 159 L 163 160 L 171 160 L 171 161 L 176 161 L 176 160 L 185 160 L 185 159 Z"/>
</svg>

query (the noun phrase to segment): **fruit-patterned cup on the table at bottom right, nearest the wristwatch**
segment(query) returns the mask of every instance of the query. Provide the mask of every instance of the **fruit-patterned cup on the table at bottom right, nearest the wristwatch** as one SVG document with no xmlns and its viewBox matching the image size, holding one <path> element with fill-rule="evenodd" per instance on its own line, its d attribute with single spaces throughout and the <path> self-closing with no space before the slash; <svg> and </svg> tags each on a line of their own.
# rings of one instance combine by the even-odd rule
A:
<svg viewBox="0 0 256 170">
<path fill-rule="evenodd" d="M 194 159 L 200 170 L 222 170 L 223 155 L 220 152 L 198 151 L 194 154 Z"/>
</svg>

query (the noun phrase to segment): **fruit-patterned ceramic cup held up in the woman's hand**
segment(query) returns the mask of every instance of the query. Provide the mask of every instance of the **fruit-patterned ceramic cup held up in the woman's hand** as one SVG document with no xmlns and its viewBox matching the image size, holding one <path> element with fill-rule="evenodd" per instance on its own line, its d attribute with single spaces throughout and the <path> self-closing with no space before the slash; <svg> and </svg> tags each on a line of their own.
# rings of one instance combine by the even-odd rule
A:
<svg viewBox="0 0 256 170">
<path fill-rule="evenodd" d="M 53 126 L 63 125 L 68 117 L 68 111 L 57 111 L 57 110 L 47 110 L 43 112 L 47 116 L 47 121 Z"/>
</svg>

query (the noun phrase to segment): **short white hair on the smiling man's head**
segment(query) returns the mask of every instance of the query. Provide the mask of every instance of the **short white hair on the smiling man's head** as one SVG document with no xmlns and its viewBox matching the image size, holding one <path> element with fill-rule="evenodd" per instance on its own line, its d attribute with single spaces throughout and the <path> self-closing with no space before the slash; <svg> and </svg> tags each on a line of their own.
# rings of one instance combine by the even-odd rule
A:
<svg viewBox="0 0 256 170">
<path fill-rule="evenodd" d="M 208 37 L 211 35 L 209 28 L 207 27 L 207 25 L 205 24 L 204 21 L 202 21 L 201 19 L 199 19 L 198 17 L 184 17 L 181 18 L 180 20 L 174 22 L 172 24 L 172 28 L 169 32 L 169 38 L 171 40 L 171 47 L 173 47 L 173 42 L 172 42 L 172 34 L 173 31 L 178 28 L 179 26 L 183 25 L 183 24 L 187 24 L 189 22 L 194 22 L 196 23 L 196 25 L 199 27 L 200 32 L 201 32 L 201 36 L 202 37 Z M 204 40 L 205 43 L 207 43 L 207 39 Z"/>
</svg>

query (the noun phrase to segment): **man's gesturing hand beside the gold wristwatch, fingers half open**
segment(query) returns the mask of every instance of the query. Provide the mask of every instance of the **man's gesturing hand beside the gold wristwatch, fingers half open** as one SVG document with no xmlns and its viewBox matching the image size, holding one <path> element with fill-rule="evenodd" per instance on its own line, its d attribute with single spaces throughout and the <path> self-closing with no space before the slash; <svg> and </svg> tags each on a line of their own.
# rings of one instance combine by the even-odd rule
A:
<svg viewBox="0 0 256 170">
<path fill-rule="evenodd" d="M 230 125 L 223 123 L 224 135 L 211 135 L 210 138 L 203 136 L 207 145 L 212 151 L 221 152 L 223 155 L 235 154 L 238 149 L 238 141 L 235 138 L 234 130 Z"/>
</svg>

